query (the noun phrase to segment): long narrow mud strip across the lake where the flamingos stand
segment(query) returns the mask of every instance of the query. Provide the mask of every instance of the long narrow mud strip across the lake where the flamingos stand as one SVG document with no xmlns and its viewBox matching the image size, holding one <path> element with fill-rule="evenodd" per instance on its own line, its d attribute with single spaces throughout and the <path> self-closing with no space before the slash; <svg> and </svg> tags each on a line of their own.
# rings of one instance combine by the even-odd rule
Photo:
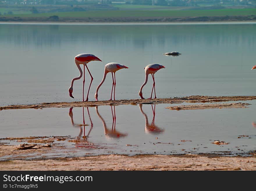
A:
<svg viewBox="0 0 256 191">
<path fill-rule="evenodd" d="M 42 109 L 51 107 L 95 107 L 101 105 L 122 105 L 122 104 L 159 104 L 159 103 L 183 103 L 183 102 L 222 102 L 222 101 L 245 101 L 256 99 L 256 96 L 189 96 L 189 97 L 175 97 L 175 98 L 158 98 L 158 99 L 130 99 L 130 100 L 115 100 L 115 101 L 87 101 L 87 102 L 52 102 L 52 103 L 40 103 L 33 105 L 10 105 L 10 106 L 0 106 L 0 110 L 6 109 Z"/>
</svg>

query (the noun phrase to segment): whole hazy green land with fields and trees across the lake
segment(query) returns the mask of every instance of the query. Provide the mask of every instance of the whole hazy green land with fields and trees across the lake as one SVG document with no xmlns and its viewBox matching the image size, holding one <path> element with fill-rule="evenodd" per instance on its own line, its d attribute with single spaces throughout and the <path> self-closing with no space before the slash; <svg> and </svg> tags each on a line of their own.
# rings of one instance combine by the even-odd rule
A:
<svg viewBox="0 0 256 191">
<path fill-rule="evenodd" d="M 239 16 L 243 16 L 239 18 Z M 40 19 L 40 17 L 42 19 Z M 0 21 L 256 20 L 256 0 L 9 0 L 0 2 Z M 200 17 L 200 18 L 192 18 Z M 232 17 L 232 18 L 231 18 Z M 31 18 L 31 19 L 29 19 Z M 76 19 L 74 19 L 76 18 Z M 101 19 L 99 19 L 101 18 Z M 104 19 L 105 18 L 105 19 Z M 111 18 L 115 18 L 111 20 Z M 125 18 L 125 19 L 124 19 Z M 143 20 L 144 19 L 144 20 Z M 214 18 L 217 19 L 218 18 Z M 130 20 L 131 21 L 131 20 Z"/>
</svg>

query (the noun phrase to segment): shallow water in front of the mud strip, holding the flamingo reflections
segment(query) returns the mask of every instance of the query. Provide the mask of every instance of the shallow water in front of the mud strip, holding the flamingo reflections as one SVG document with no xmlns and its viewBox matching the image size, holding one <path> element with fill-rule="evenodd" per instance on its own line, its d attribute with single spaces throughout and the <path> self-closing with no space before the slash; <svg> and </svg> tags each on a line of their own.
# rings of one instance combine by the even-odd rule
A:
<svg viewBox="0 0 256 191">
<path fill-rule="evenodd" d="M 54 156 L 222 151 L 244 154 L 256 149 L 256 128 L 252 125 L 256 121 L 256 101 L 246 102 L 252 105 L 249 108 L 180 111 L 166 109 L 170 104 L 2 110 L 1 138 L 70 135 L 83 140 L 82 136 L 88 135 L 80 143 L 61 141 L 68 154 L 63 150 L 48 153 Z M 88 126 L 83 129 L 80 124 Z M 239 135 L 248 137 L 238 138 Z M 230 144 L 215 145 L 212 144 L 214 140 Z M 15 140 L 10 144 L 20 143 Z"/>
</svg>

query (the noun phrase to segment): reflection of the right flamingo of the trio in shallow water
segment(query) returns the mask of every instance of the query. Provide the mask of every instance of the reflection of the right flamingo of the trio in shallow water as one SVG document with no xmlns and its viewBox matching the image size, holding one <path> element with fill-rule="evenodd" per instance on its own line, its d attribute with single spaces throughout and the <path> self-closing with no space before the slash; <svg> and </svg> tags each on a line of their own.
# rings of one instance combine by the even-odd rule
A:
<svg viewBox="0 0 256 191">
<path fill-rule="evenodd" d="M 164 132 L 163 128 L 159 128 L 158 126 L 155 125 L 155 111 L 156 111 L 156 105 L 154 104 L 154 109 L 153 109 L 153 105 L 151 105 L 152 107 L 152 111 L 153 111 L 153 119 L 151 124 L 148 123 L 148 118 L 147 118 L 147 114 L 143 112 L 142 110 L 142 103 L 139 104 L 141 113 L 144 115 L 145 117 L 145 132 L 146 133 L 153 133 L 153 134 L 160 134 Z"/>
</svg>

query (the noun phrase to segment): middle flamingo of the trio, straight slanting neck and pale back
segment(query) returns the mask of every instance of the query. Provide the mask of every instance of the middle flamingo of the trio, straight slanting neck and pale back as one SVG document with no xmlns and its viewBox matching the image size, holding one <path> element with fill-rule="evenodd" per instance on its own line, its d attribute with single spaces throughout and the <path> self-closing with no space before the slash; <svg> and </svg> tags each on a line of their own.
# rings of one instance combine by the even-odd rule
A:
<svg viewBox="0 0 256 191">
<path fill-rule="evenodd" d="M 98 101 L 98 91 L 99 91 L 99 88 L 100 88 L 100 86 L 103 84 L 103 82 L 105 81 L 106 75 L 107 75 L 107 73 L 109 73 L 109 72 L 112 73 L 112 80 L 113 80 L 112 90 L 111 90 L 111 97 L 110 97 L 110 99 L 109 99 L 109 100 L 112 100 L 113 87 L 114 87 L 115 82 L 116 82 L 116 81 L 114 81 L 115 72 L 118 71 L 118 70 L 120 70 L 120 69 L 122 69 L 122 68 L 128 68 L 128 67 L 125 66 L 125 65 L 122 65 L 122 64 L 115 63 L 115 62 L 111 62 L 111 63 L 108 63 L 108 64 L 105 65 L 103 79 L 102 79 L 101 83 L 98 85 L 97 90 L 96 90 L 96 93 L 95 93 L 95 99 L 96 99 L 96 101 Z M 113 73 L 114 73 L 114 77 L 113 77 Z M 114 88 L 114 100 L 115 100 L 115 88 Z"/>
</svg>

